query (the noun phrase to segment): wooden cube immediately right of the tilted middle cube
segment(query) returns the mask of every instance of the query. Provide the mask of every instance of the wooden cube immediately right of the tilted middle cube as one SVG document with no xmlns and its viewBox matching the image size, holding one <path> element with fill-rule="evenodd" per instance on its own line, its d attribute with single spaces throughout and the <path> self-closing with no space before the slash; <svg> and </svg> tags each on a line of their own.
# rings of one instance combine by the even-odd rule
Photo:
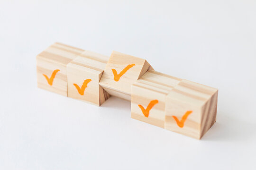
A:
<svg viewBox="0 0 256 170">
<path fill-rule="evenodd" d="M 165 98 L 182 79 L 147 71 L 131 87 L 131 118 L 165 128 Z"/>
</svg>

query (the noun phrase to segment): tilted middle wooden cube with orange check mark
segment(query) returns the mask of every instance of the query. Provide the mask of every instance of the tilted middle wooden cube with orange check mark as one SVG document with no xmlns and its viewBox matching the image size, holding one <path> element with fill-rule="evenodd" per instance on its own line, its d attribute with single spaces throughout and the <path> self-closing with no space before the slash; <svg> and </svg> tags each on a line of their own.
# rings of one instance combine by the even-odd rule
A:
<svg viewBox="0 0 256 170">
<path fill-rule="evenodd" d="M 131 85 L 147 70 L 146 59 L 113 51 L 101 77 L 100 85 L 113 96 L 131 99 Z"/>
</svg>

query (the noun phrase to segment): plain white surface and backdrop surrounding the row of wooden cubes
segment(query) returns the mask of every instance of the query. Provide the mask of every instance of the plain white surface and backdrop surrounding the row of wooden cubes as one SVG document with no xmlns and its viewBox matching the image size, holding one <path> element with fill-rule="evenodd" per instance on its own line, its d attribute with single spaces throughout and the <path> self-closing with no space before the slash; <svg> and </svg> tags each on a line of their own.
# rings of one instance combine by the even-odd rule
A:
<svg viewBox="0 0 256 170">
<path fill-rule="evenodd" d="M 0 170 L 256 169 L 256 1 L 0 1 Z M 54 42 L 147 59 L 219 89 L 201 140 L 37 88 Z"/>
</svg>

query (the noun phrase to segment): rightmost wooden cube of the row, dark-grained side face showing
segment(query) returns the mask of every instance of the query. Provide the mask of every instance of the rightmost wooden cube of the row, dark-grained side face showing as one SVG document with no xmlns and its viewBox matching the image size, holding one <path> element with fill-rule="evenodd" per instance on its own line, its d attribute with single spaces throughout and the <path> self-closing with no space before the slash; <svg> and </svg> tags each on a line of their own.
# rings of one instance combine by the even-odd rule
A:
<svg viewBox="0 0 256 170">
<path fill-rule="evenodd" d="M 216 122 L 218 89 L 182 80 L 166 97 L 165 128 L 197 139 Z"/>
</svg>

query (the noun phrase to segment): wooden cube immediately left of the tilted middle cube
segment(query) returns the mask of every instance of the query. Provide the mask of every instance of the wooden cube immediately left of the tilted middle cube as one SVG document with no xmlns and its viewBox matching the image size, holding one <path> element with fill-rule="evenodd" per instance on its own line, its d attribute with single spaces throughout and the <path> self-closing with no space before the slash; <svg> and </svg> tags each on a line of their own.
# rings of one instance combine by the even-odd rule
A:
<svg viewBox="0 0 256 170">
<path fill-rule="evenodd" d="M 100 106 L 110 95 L 99 85 L 109 57 L 84 51 L 67 65 L 68 97 Z"/>
</svg>

